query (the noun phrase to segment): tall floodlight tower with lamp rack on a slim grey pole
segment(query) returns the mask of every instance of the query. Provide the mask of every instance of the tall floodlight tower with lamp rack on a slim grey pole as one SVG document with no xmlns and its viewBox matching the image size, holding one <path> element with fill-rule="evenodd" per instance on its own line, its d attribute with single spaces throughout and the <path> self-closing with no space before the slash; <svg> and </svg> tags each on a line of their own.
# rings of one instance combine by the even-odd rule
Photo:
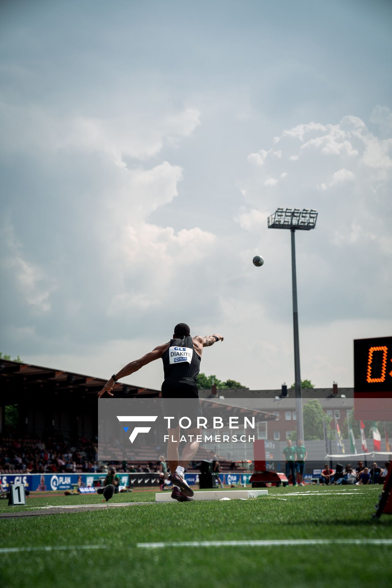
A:
<svg viewBox="0 0 392 588">
<path fill-rule="evenodd" d="M 300 341 L 298 330 L 298 304 L 297 304 L 297 272 L 296 272 L 296 230 L 314 229 L 317 220 L 317 211 L 309 208 L 278 208 L 268 218 L 269 229 L 290 229 L 292 233 L 292 282 L 293 282 L 293 326 L 294 326 L 294 373 L 296 377 L 296 413 L 297 413 L 297 440 L 304 440 L 303 416 L 302 416 L 302 392 L 300 370 Z"/>
</svg>

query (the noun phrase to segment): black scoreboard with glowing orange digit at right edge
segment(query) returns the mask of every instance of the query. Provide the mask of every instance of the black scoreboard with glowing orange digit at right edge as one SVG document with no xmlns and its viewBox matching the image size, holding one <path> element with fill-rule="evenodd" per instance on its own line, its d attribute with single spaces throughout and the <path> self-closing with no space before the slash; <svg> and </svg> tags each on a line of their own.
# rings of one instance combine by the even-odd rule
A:
<svg viewBox="0 0 392 588">
<path fill-rule="evenodd" d="M 355 418 L 392 420 L 392 337 L 354 340 Z"/>
</svg>

